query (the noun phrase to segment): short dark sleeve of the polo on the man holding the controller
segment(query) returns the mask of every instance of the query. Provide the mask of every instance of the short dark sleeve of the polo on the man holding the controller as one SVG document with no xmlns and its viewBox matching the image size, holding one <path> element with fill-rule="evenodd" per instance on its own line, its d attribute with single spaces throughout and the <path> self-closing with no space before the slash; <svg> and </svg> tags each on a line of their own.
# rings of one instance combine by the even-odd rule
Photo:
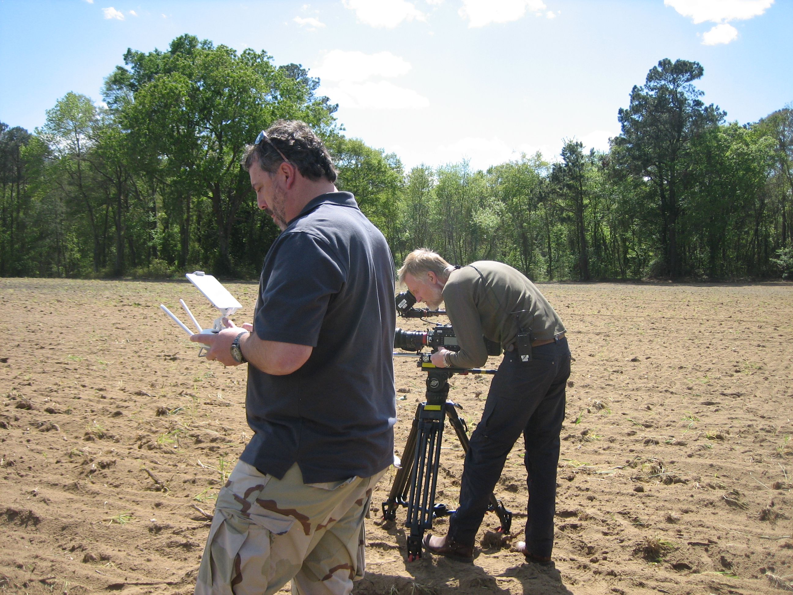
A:
<svg viewBox="0 0 793 595">
<path fill-rule="evenodd" d="M 291 232 L 278 247 L 254 329 L 259 339 L 316 347 L 331 297 L 346 271 L 324 240 Z"/>
</svg>

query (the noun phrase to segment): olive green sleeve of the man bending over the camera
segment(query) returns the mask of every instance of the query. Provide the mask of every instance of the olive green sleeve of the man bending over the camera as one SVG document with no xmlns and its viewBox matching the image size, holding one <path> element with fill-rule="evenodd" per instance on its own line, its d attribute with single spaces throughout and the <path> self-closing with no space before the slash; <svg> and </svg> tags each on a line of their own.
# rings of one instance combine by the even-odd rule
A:
<svg viewBox="0 0 793 595">
<path fill-rule="evenodd" d="M 443 301 L 460 351 L 448 356 L 453 367 L 477 368 L 488 361 L 488 351 L 482 338 L 482 323 L 473 300 L 473 286 L 451 282 L 443 288 Z"/>
</svg>

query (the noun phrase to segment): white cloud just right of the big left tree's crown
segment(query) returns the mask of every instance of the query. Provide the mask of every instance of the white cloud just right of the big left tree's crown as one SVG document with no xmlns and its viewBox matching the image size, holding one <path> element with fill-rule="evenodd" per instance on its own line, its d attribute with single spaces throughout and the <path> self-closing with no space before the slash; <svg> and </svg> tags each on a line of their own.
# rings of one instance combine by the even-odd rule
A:
<svg viewBox="0 0 793 595">
<path fill-rule="evenodd" d="M 423 95 L 389 81 L 405 75 L 411 63 L 391 52 L 328 52 L 311 74 L 320 77 L 322 93 L 345 108 L 420 109 L 430 105 Z"/>
</svg>

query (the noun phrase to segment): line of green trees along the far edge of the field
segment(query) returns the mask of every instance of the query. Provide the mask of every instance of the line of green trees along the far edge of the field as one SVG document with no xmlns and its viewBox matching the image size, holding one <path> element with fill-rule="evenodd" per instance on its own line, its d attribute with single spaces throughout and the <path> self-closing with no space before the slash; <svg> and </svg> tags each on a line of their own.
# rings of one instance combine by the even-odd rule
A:
<svg viewBox="0 0 793 595">
<path fill-rule="evenodd" d="M 696 62 L 650 69 L 607 152 L 568 139 L 487 171 L 405 171 L 343 135 L 319 79 L 266 52 L 184 35 L 124 63 L 99 104 L 68 93 L 33 133 L 0 123 L 0 276 L 255 278 L 278 228 L 239 160 L 299 118 L 397 262 L 426 247 L 538 280 L 793 278 L 793 106 L 727 121 Z"/>
</svg>

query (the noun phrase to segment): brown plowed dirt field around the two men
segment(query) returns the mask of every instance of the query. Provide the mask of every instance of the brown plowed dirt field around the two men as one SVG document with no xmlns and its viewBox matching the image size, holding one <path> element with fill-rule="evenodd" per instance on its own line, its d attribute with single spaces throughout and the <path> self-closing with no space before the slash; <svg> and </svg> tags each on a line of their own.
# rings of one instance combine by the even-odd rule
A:
<svg viewBox="0 0 793 595">
<path fill-rule="evenodd" d="M 256 286 L 228 288 L 248 320 Z M 793 589 L 793 284 L 541 288 L 575 358 L 556 569 L 487 546 L 473 565 L 405 562 L 404 510 L 394 526 L 377 520 L 386 474 L 355 593 Z M 205 514 L 251 431 L 245 367 L 197 358 L 158 308 L 180 297 L 210 324 L 216 311 L 186 282 L 0 279 L 0 589 L 192 592 Z M 408 359 L 396 370 L 401 454 L 423 375 Z M 453 379 L 469 426 L 489 378 Z M 438 500 L 454 506 L 463 455 L 451 435 Z M 519 532 L 520 443 L 497 495 Z M 480 537 L 496 525 L 485 516 Z"/>
</svg>

